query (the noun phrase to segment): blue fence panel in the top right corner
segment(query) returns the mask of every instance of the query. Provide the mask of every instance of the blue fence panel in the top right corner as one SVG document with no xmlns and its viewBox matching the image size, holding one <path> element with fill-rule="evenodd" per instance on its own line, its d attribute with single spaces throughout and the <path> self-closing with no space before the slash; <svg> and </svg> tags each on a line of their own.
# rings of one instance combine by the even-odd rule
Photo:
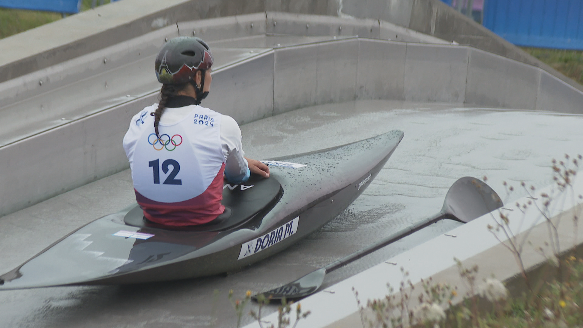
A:
<svg viewBox="0 0 583 328">
<path fill-rule="evenodd" d="M 583 0 L 487 0 L 484 26 L 526 47 L 583 50 Z"/>
</svg>

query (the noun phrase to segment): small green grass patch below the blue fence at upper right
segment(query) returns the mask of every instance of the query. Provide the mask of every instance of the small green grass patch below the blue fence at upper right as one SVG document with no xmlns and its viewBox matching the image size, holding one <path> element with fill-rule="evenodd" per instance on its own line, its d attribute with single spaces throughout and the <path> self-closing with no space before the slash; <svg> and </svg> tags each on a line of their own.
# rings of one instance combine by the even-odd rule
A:
<svg viewBox="0 0 583 328">
<path fill-rule="evenodd" d="M 583 84 L 583 51 L 545 48 L 522 48 L 533 57 Z"/>
</svg>

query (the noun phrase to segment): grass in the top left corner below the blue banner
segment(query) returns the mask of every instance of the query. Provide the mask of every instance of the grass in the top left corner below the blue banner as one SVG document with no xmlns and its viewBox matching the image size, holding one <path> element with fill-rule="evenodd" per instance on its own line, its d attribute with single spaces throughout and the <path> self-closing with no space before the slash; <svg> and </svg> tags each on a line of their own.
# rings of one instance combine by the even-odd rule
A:
<svg viewBox="0 0 583 328">
<path fill-rule="evenodd" d="M 81 11 L 91 9 L 92 1 L 83 0 Z M 97 0 L 96 5 L 99 5 L 101 1 L 104 4 L 110 2 L 110 0 Z M 34 27 L 45 25 L 59 19 L 61 19 L 61 14 L 55 12 L 0 8 L 0 39 L 34 29 Z"/>
</svg>

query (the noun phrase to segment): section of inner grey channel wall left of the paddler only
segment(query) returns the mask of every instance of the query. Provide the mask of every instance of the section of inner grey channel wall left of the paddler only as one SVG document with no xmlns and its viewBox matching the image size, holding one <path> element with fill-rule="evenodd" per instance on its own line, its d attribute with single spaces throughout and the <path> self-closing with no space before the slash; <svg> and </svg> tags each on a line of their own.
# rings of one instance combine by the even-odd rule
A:
<svg viewBox="0 0 583 328">
<path fill-rule="evenodd" d="M 121 140 L 130 118 L 155 98 L 122 104 L 0 148 L 0 185 L 6 186 L 0 216 L 128 168 L 127 159 L 121 160 Z"/>
</svg>

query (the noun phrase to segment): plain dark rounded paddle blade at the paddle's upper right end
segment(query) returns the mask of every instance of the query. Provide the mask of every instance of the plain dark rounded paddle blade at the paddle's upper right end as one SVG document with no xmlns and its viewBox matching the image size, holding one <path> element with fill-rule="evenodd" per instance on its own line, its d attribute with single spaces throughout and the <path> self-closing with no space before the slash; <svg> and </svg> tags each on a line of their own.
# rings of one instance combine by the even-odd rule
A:
<svg viewBox="0 0 583 328">
<path fill-rule="evenodd" d="M 449 188 L 442 212 L 447 218 L 469 222 L 503 207 L 502 200 L 486 183 L 475 177 L 462 177 Z"/>
</svg>

